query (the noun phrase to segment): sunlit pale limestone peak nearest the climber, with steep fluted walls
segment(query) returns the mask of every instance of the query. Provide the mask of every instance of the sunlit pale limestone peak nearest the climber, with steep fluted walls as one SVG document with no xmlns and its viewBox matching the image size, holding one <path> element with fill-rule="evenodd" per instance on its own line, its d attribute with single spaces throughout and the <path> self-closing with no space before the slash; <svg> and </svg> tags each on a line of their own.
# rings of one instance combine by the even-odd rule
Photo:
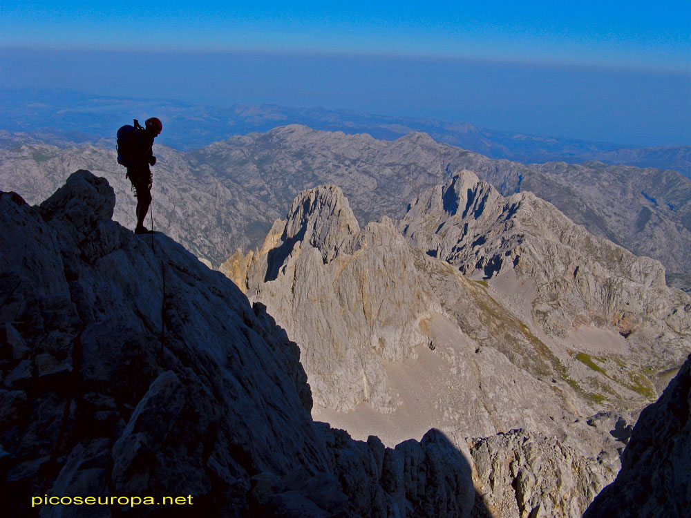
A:
<svg viewBox="0 0 691 518">
<path fill-rule="evenodd" d="M 435 304 L 415 260 L 391 220 L 360 230 L 341 189 L 325 186 L 296 198 L 236 280 L 301 343 L 319 405 L 388 409 L 381 359 L 425 343 L 419 322 Z"/>
</svg>

